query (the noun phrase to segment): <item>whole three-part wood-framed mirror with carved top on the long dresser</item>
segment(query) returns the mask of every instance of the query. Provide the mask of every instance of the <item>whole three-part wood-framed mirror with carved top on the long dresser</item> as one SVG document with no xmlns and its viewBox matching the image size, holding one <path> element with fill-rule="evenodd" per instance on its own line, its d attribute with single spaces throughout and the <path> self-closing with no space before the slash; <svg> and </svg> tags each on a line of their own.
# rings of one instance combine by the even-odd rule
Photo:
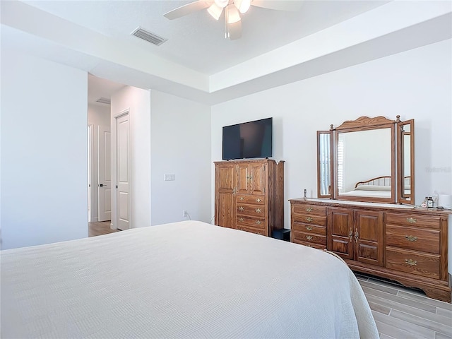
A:
<svg viewBox="0 0 452 339">
<path fill-rule="evenodd" d="M 414 121 L 400 121 L 400 116 L 359 117 L 317 131 L 318 197 L 414 203 L 412 132 Z"/>
</svg>

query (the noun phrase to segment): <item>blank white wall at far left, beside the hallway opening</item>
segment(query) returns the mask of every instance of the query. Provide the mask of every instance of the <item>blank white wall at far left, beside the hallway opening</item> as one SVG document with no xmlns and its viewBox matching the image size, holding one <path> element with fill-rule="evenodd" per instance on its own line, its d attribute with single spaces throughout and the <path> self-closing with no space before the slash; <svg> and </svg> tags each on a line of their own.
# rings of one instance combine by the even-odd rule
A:
<svg viewBox="0 0 452 339">
<path fill-rule="evenodd" d="M 88 74 L 1 50 L 2 249 L 88 235 Z"/>
</svg>

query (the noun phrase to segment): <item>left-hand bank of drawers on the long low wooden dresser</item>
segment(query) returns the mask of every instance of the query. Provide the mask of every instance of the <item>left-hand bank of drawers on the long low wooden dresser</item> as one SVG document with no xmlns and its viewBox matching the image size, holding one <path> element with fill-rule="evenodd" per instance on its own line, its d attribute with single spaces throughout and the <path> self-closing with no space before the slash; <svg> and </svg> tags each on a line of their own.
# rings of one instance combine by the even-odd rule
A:
<svg viewBox="0 0 452 339">
<path fill-rule="evenodd" d="M 326 249 L 326 207 L 292 205 L 291 241 L 316 249 Z"/>
</svg>

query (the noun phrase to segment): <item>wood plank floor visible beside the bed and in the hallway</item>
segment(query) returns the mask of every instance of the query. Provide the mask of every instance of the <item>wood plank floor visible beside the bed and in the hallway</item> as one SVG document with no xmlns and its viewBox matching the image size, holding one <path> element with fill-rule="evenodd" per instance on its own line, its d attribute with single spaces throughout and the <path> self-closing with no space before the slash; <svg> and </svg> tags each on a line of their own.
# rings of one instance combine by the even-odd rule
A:
<svg viewBox="0 0 452 339">
<path fill-rule="evenodd" d="M 90 222 L 89 236 L 117 232 L 110 222 Z M 381 339 L 452 339 L 452 304 L 430 299 L 422 291 L 356 273 L 374 314 Z"/>
</svg>

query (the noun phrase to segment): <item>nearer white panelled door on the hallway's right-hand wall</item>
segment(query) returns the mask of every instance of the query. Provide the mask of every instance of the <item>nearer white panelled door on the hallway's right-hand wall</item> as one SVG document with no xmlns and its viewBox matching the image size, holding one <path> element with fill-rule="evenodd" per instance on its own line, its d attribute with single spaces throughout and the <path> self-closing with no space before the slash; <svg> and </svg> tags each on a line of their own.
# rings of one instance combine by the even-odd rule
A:
<svg viewBox="0 0 452 339">
<path fill-rule="evenodd" d="M 130 228 L 129 112 L 116 118 L 117 228 Z"/>
</svg>

